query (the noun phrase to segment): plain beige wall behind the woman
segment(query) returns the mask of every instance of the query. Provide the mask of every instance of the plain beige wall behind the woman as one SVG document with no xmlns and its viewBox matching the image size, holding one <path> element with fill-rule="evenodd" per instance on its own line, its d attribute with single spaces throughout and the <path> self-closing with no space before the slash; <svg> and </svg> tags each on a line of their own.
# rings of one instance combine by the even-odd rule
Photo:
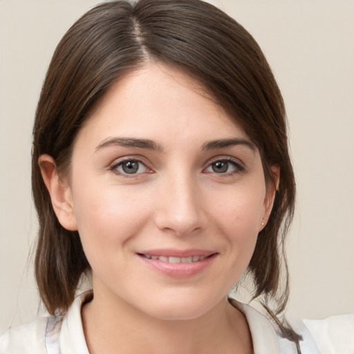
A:
<svg viewBox="0 0 354 354">
<path fill-rule="evenodd" d="M 219 4 L 221 1 L 216 1 Z M 35 316 L 31 127 L 66 29 L 97 1 L 0 0 L 0 332 Z M 259 41 L 290 120 L 298 183 L 288 312 L 354 311 L 354 1 L 223 0 Z"/>
</svg>

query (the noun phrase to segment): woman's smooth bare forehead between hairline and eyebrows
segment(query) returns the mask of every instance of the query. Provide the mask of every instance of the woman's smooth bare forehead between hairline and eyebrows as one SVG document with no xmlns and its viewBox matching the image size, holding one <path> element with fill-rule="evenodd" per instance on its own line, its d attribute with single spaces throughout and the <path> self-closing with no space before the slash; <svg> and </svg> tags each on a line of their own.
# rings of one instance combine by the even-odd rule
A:
<svg viewBox="0 0 354 354">
<path fill-rule="evenodd" d="M 115 82 L 82 127 L 84 135 L 94 142 L 132 136 L 161 144 L 247 138 L 197 80 L 163 64 L 147 64 Z"/>
</svg>

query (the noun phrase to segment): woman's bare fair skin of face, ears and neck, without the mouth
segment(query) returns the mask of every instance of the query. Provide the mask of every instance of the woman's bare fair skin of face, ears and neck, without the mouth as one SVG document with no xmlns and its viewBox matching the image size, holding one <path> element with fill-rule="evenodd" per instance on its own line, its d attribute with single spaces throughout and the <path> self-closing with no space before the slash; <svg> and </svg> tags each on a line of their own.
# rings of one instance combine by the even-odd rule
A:
<svg viewBox="0 0 354 354">
<path fill-rule="evenodd" d="M 69 176 L 57 176 L 50 156 L 39 165 L 93 271 L 94 299 L 82 308 L 90 353 L 252 353 L 227 292 L 252 257 L 274 186 L 257 147 L 197 82 L 158 63 L 126 75 L 80 129 Z M 213 256 L 174 276 L 141 256 L 156 248 Z"/>
</svg>

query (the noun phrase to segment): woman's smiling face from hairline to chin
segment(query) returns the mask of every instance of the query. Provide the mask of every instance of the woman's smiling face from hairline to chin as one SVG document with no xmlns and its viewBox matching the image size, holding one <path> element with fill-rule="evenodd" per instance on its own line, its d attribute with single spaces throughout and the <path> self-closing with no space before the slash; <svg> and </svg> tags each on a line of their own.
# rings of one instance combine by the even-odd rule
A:
<svg viewBox="0 0 354 354">
<path fill-rule="evenodd" d="M 93 111 L 66 193 L 95 299 L 161 319 L 223 303 L 273 196 L 239 125 L 162 64 L 124 77 Z"/>
</svg>

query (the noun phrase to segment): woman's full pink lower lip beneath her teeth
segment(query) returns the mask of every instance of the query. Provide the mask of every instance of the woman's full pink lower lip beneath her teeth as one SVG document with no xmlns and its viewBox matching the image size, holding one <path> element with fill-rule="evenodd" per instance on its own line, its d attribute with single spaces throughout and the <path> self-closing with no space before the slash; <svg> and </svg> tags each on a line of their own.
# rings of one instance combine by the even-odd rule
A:
<svg viewBox="0 0 354 354">
<path fill-rule="evenodd" d="M 169 263 L 159 261 L 158 259 L 147 259 L 144 256 L 138 255 L 138 257 L 151 269 L 165 274 L 169 277 L 175 278 L 187 278 L 192 277 L 200 272 L 203 272 L 205 268 L 216 258 L 216 254 L 203 259 L 202 261 L 189 262 L 189 263 Z"/>
</svg>

